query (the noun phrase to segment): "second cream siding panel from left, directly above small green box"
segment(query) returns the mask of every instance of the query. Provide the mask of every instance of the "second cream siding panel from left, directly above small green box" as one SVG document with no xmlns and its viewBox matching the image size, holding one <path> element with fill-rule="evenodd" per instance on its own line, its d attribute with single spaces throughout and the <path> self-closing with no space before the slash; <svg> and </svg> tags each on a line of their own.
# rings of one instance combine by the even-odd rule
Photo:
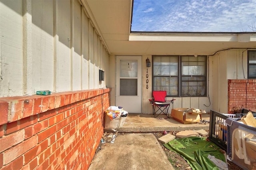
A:
<svg viewBox="0 0 256 170">
<path fill-rule="evenodd" d="M 32 89 L 53 90 L 53 2 L 32 1 Z"/>
</svg>

